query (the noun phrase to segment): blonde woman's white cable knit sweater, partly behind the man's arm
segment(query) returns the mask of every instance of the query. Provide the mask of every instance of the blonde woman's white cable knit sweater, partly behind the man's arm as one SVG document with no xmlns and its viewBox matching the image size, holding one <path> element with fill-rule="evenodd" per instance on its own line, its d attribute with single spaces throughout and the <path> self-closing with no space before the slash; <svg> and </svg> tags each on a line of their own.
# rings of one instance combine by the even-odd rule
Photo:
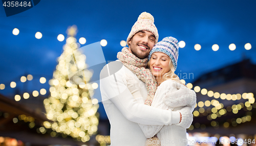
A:
<svg viewBox="0 0 256 146">
<path fill-rule="evenodd" d="M 151 106 L 165 110 L 179 111 L 182 114 L 181 123 L 168 126 L 149 126 L 139 124 L 140 128 L 142 129 L 143 133 L 147 138 L 151 138 L 157 134 L 157 137 L 161 142 L 161 146 L 187 145 L 186 129 L 189 128 L 193 121 L 192 112 L 196 105 L 196 94 L 195 91 L 189 90 L 187 94 L 188 96 L 174 94 L 171 97 L 166 96 L 178 90 L 176 88 L 177 84 L 179 83 L 173 80 L 166 80 L 161 83 L 160 86 L 158 86 L 157 88 Z M 181 88 L 180 90 L 184 90 L 184 88 Z M 136 100 L 140 104 L 144 104 L 142 98 L 136 98 Z M 166 104 L 169 105 L 167 106 Z M 187 105 L 184 106 L 184 104 Z"/>
</svg>

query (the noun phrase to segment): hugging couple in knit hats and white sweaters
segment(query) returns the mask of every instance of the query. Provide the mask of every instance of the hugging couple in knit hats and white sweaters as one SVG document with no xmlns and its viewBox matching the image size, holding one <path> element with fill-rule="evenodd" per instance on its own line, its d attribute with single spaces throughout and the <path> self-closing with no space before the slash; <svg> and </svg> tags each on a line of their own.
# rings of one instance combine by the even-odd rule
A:
<svg viewBox="0 0 256 146">
<path fill-rule="evenodd" d="M 117 61 L 100 73 L 102 103 L 112 146 L 187 145 L 196 93 L 174 74 L 178 40 L 158 42 L 154 17 L 143 12 Z"/>
</svg>

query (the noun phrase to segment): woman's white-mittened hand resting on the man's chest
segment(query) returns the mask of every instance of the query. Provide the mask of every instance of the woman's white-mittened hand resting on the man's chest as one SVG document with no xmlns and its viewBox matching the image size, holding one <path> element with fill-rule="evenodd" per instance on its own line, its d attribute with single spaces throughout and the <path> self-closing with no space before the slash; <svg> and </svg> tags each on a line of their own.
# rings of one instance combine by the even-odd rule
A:
<svg viewBox="0 0 256 146">
<path fill-rule="evenodd" d="M 131 93 L 133 94 L 133 97 L 136 98 L 140 98 L 142 97 L 141 93 L 140 93 L 140 86 L 139 86 L 139 82 L 137 82 L 133 76 L 129 75 L 129 74 L 125 74 L 122 77 L 122 80 L 124 82 L 124 84 L 127 86 L 127 88 L 131 91 Z"/>
</svg>

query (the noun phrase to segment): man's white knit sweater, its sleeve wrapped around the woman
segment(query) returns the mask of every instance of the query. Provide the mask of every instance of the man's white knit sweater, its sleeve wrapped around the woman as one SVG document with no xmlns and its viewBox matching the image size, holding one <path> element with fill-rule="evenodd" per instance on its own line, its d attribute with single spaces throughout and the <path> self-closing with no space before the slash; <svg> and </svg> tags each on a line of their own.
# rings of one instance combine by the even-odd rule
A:
<svg viewBox="0 0 256 146">
<path fill-rule="evenodd" d="M 147 98 L 145 84 L 122 63 L 118 68 L 120 63 L 120 61 L 111 62 L 105 65 L 100 73 L 102 103 L 111 124 L 111 145 L 141 146 L 145 144 L 146 137 L 138 124 L 162 126 L 178 124 L 180 113 L 139 104 L 124 85 L 122 76 L 130 74 L 139 82 L 143 101 Z M 182 115 L 180 126 L 189 124 L 187 118 L 191 117 Z"/>
</svg>

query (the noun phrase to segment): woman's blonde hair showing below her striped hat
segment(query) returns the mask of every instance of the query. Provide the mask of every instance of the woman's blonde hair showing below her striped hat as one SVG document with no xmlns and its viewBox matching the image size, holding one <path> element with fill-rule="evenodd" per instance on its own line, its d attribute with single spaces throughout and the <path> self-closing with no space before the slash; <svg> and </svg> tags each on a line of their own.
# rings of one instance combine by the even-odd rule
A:
<svg viewBox="0 0 256 146">
<path fill-rule="evenodd" d="M 169 58 L 170 59 L 170 58 Z M 147 66 L 148 68 L 150 68 L 150 60 L 147 62 Z M 172 62 L 172 59 L 170 59 L 169 61 L 169 71 L 166 72 L 164 75 L 163 75 L 163 78 L 164 78 L 164 81 L 166 80 L 174 80 L 175 82 L 177 83 L 180 83 L 184 86 L 186 86 L 185 84 L 183 84 L 181 81 L 180 81 L 180 78 L 179 76 L 177 76 L 175 73 L 174 73 L 174 65 L 173 65 L 173 62 Z"/>
</svg>

